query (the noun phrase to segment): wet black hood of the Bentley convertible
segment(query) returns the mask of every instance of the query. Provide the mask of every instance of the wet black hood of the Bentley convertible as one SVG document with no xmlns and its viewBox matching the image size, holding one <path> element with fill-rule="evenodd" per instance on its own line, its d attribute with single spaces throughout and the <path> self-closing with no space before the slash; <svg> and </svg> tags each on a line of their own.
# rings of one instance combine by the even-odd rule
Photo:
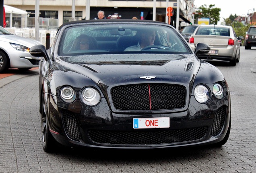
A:
<svg viewBox="0 0 256 173">
<path fill-rule="evenodd" d="M 102 57 L 102 55 L 93 56 L 95 59 Z M 123 60 L 115 60 L 120 56 Z M 137 59 L 143 60 L 129 60 L 130 56 L 136 56 Z M 138 58 L 139 56 L 143 57 Z M 59 63 L 64 65 L 64 68 L 70 68 L 70 70 L 91 78 L 97 84 L 99 82 L 114 84 L 117 80 L 118 83 L 125 83 L 128 80 L 136 81 L 134 78 L 138 80 L 141 77 L 147 81 L 147 76 L 155 76 L 156 78 L 152 77 L 153 80 L 189 83 L 200 67 L 200 61 L 194 54 L 111 54 L 104 55 L 104 59 L 109 60 L 72 62 L 70 64 L 59 59 Z"/>
</svg>

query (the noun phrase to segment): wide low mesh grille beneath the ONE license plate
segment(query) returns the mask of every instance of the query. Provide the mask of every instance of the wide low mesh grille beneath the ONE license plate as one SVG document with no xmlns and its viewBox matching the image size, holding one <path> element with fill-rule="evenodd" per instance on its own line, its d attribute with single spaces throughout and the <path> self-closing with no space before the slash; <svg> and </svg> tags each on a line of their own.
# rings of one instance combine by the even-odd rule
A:
<svg viewBox="0 0 256 173">
<path fill-rule="evenodd" d="M 94 143 L 119 145 L 154 145 L 190 142 L 203 139 L 207 127 L 171 131 L 96 131 L 88 135 Z"/>
</svg>

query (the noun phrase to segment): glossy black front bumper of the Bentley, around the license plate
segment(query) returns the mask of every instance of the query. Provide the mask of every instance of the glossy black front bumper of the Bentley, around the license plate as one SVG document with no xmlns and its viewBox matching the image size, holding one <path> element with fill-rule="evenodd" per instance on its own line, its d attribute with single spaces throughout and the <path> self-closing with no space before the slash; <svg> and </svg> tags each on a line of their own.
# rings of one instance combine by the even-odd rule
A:
<svg viewBox="0 0 256 173">
<path fill-rule="evenodd" d="M 49 96 L 51 97 L 51 96 Z M 56 141 L 70 146 L 104 148 L 165 148 L 217 143 L 227 133 L 230 119 L 230 98 L 212 99 L 199 104 L 191 98 L 183 112 L 154 114 L 117 114 L 106 109 L 105 101 L 97 107 L 75 102 L 68 107 L 49 104 L 50 129 Z M 61 104 L 59 104 L 61 105 Z M 56 109 L 57 108 L 57 109 Z M 133 129 L 133 118 L 169 117 L 170 127 Z"/>
</svg>

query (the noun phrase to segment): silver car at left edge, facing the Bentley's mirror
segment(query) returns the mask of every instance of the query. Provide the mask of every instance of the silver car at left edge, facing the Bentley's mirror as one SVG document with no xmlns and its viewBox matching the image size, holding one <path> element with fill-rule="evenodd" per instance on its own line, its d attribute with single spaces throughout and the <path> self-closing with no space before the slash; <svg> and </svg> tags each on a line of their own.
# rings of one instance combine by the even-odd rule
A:
<svg viewBox="0 0 256 173">
<path fill-rule="evenodd" d="M 0 26 L 0 72 L 8 68 L 29 70 L 38 67 L 40 58 L 31 56 L 29 50 L 41 42 L 13 35 Z"/>
</svg>

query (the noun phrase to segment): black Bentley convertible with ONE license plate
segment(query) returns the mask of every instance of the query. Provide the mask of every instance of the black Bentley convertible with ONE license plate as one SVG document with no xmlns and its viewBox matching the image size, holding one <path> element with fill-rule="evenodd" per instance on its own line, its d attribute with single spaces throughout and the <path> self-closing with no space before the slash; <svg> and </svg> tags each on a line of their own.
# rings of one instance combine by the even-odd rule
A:
<svg viewBox="0 0 256 173">
<path fill-rule="evenodd" d="M 163 22 L 81 20 L 60 26 L 39 63 L 43 149 L 222 146 L 231 129 L 227 81 Z"/>
</svg>

